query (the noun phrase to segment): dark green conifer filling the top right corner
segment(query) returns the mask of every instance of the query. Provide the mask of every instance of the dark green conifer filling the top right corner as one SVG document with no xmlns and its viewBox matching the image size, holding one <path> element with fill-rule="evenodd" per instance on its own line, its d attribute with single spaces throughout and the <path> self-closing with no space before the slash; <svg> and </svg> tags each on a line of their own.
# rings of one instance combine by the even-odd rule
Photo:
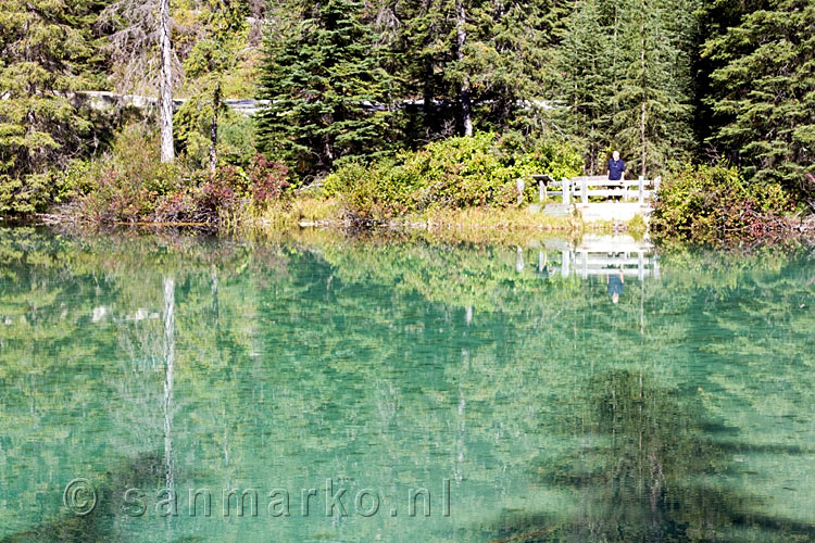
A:
<svg viewBox="0 0 815 543">
<path fill-rule="evenodd" d="M 710 141 L 748 177 L 797 188 L 815 172 L 815 4 L 765 0 L 706 41 Z"/>
</svg>

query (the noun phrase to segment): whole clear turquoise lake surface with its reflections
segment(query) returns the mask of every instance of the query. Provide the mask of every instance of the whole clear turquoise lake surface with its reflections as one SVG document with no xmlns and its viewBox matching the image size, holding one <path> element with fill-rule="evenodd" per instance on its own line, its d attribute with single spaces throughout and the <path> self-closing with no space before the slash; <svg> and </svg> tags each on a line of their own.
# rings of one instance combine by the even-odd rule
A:
<svg viewBox="0 0 815 543">
<path fill-rule="evenodd" d="M 560 258 L 0 231 L 0 540 L 815 539 L 812 250 Z"/>
</svg>

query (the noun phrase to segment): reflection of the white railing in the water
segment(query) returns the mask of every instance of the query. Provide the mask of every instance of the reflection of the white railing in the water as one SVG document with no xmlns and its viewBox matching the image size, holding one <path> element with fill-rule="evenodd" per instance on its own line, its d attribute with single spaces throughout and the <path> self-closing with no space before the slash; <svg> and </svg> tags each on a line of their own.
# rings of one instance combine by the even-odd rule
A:
<svg viewBox="0 0 815 543">
<path fill-rule="evenodd" d="M 515 269 L 523 273 L 528 251 L 517 248 Z M 535 251 L 535 248 L 531 249 Z M 572 275 L 588 279 L 591 276 L 619 274 L 637 277 L 640 281 L 647 277 L 660 278 L 660 261 L 652 245 L 638 243 L 634 238 L 592 237 L 586 238 L 577 247 L 566 242 L 543 243 L 537 249 L 537 263 L 529 260 L 537 275 L 547 278 L 560 275 L 567 278 Z"/>
</svg>

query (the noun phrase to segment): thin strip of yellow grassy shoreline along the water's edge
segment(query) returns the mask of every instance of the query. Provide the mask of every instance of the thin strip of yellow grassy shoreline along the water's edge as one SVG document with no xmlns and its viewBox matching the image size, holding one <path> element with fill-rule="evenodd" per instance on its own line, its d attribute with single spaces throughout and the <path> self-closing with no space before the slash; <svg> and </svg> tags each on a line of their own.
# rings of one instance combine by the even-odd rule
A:
<svg viewBox="0 0 815 543">
<path fill-rule="evenodd" d="M 42 213 L 28 219 L 0 219 L 4 226 L 46 226 L 106 230 L 122 227 L 146 229 L 191 229 L 216 236 L 273 237 L 302 230 L 342 231 L 348 235 L 399 233 L 446 241 L 523 242 L 539 235 L 579 237 L 584 233 L 628 233 L 635 238 L 651 237 L 648 220 L 636 215 L 631 220 L 586 222 L 579 211 L 568 215 L 550 216 L 536 204 L 524 207 L 467 207 L 434 210 L 401 217 L 361 218 L 350 216 L 336 199 L 297 199 L 280 201 L 265 210 L 243 210 L 220 223 L 195 222 L 113 222 L 83 219 L 71 213 Z M 655 238 L 659 238 L 655 237 Z M 693 239 L 664 238 L 668 243 L 699 244 Z M 744 239 L 747 244 L 801 241 L 815 244 L 815 216 L 800 219 L 794 229 L 767 232 L 757 239 Z M 742 244 L 742 243 L 737 243 Z M 731 244 L 732 245 L 732 244 Z M 725 245 L 727 247 L 727 245 Z"/>
</svg>

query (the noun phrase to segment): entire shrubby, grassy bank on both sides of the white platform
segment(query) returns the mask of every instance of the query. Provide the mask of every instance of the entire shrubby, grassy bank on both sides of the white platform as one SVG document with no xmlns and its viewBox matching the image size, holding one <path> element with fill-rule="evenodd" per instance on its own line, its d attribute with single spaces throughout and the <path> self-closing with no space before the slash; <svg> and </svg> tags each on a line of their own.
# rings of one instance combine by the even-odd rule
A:
<svg viewBox="0 0 815 543">
<path fill-rule="evenodd" d="M 161 164 L 156 135 L 124 129 L 108 153 L 54 175 L 50 222 L 87 225 L 175 224 L 221 231 L 280 232 L 302 227 L 418 230 L 451 240 L 512 240 L 540 232 L 645 233 L 642 217 L 585 224 L 532 204 L 531 175 L 581 171 L 575 149 L 551 140 L 478 134 L 367 163 L 346 162 L 327 176 L 299 178 L 260 154 L 234 154 L 214 171 Z M 517 179 L 525 189 L 518 200 Z M 704 244 L 786 239 L 811 231 L 795 197 L 778 184 L 745 181 L 734 168 L 681 166 L 666 173 L 652 235 Z"/>
</svg>

